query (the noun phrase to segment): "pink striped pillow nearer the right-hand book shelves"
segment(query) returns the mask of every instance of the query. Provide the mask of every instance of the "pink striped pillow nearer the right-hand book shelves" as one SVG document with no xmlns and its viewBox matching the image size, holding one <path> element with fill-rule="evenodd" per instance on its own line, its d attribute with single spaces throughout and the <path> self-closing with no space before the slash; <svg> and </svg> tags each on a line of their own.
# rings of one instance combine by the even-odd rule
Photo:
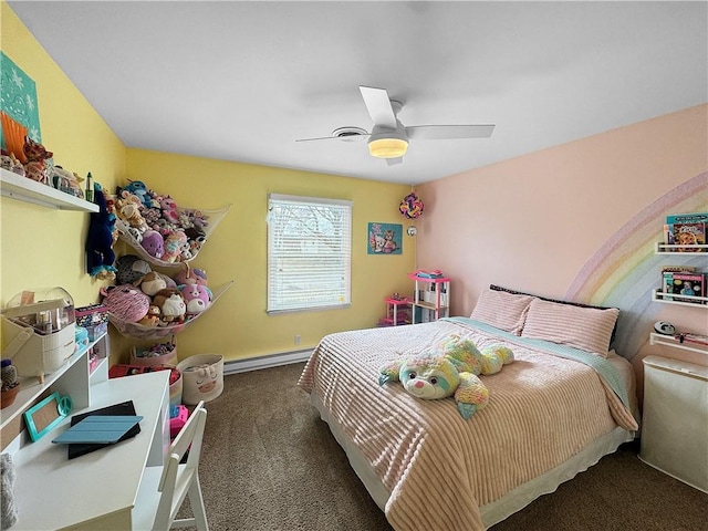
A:
<svg viewBox="0 0 708 531">
<path fill-rule="evenodd" d="M 534 299 L 522 337 L 551 341 L 607 357 L 620 310 L 581 308 Z"/>
</svg>

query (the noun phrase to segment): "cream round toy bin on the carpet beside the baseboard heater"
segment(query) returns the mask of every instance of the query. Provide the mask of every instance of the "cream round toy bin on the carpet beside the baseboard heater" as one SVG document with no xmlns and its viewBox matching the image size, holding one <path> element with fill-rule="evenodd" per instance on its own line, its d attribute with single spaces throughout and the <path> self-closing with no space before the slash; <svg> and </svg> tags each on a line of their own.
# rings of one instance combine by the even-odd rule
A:
<svg viewBox="0 0 708 531">
<path fill-rule="evenodd" d="M 197 354 L 177 364 L 183 377 L 181 400 L 194 406 L 214 400 L 223 392 L 223 356 Z"/>
</svg>

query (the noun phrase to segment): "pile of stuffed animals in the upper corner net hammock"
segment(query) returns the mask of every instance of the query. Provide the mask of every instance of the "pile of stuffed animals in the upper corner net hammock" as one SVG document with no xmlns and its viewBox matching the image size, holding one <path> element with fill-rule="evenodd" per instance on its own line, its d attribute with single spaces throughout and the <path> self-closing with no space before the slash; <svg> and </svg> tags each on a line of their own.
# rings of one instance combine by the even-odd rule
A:
<svg viewBox="0 0 708 531">
<path fill-rule="evenodd" d="M 122 230 L 163 262 L 192 259 L 207 239 L 208 216 L 179 208 L 171 197 L 148 189 L 140 180 L 116 190 L 115 208 Z"/>
</svg>

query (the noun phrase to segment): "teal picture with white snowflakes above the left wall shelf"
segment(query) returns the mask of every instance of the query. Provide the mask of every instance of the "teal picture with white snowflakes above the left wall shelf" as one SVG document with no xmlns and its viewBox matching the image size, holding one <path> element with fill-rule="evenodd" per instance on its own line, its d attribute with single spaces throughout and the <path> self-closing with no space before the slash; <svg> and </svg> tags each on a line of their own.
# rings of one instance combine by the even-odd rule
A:
<svg viewBox="0 0 708 531">
<path fill-rule="evenodd" d="M 27 127 L 27 136 L 42 143 L 37 86 L 22 69 L 0 52 L 0 111 Z M 2 135 L 2 148 L 6 148 Z"/>
</svg>

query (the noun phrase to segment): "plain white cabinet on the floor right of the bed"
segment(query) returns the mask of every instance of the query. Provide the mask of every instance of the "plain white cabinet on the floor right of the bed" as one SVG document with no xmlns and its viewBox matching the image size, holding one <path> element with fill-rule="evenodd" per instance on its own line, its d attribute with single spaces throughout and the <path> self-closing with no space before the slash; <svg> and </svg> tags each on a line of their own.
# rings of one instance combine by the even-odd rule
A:
<svg viewBox="0 0 708 531">
<path fill-rule="evenodd" d="M 708 492 L 708 367 L 644 358 L 639 458 Z"/>
</svg>

